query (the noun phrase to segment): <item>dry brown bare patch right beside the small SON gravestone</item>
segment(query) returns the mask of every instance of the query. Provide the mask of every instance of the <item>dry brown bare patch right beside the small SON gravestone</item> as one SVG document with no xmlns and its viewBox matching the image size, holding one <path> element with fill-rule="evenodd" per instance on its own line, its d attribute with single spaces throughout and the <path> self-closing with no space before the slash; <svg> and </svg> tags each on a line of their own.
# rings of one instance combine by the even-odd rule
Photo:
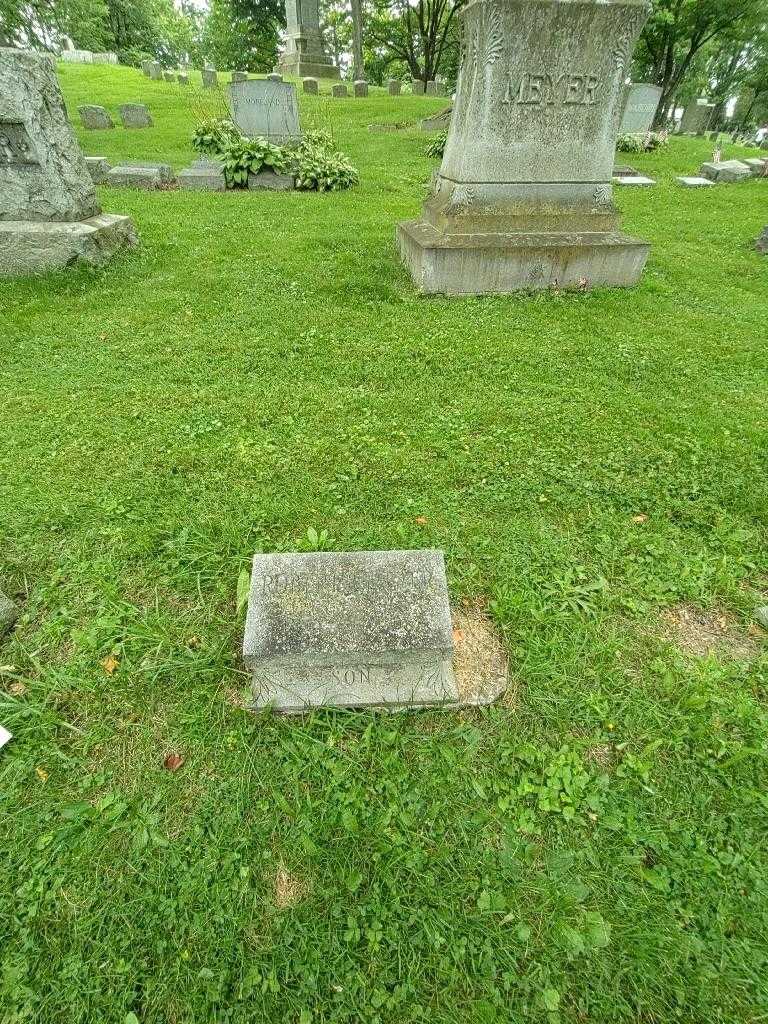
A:
<svg viewBox="0 0 768 1024">
<path fill-rule="evenodd" d="M 454 676 L 463 703 L 515 703 L 509 658 L 502 638 L 480 600 L 465 600 L 453 609 Z"/>
</svg>

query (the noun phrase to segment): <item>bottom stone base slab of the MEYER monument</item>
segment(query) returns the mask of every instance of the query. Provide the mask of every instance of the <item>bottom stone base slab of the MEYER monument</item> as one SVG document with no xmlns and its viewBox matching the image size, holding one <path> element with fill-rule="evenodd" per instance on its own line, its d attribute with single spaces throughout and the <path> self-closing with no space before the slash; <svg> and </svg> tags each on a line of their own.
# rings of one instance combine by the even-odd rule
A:
<svg viewBox="0 0 768 1024">
<path fill-rule="evenodd" d="M 631 288 L 650 246 L 620 233 L 440 234 L 397 225 L 397 246 L 424 294 L 506 295 L 548 288 Z"/>
</svg>

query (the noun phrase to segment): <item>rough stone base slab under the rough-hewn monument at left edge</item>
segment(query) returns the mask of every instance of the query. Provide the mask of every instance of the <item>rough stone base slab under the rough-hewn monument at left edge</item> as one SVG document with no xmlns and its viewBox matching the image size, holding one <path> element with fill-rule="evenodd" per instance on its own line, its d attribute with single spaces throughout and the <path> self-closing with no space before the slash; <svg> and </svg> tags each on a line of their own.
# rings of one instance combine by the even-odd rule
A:
<svg viewBox="0 0 768 1024">
<path fill-rule="evenodd" d="M 0 278 L 61 270 L 76 263 L 101 266 L 136 245 L 131 218 L 114 213 L 56 223 L 0 221 Z"/>
</svg>

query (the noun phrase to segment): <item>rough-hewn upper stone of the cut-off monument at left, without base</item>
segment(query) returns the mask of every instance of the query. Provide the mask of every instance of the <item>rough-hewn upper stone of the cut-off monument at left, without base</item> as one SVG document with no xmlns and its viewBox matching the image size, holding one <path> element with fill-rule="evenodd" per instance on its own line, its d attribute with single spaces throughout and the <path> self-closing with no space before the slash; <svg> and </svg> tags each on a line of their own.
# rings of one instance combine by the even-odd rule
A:
<svg viewBox="0 0 768 1024">
<path fill-rule="evenodd" d="M 50 61 L 0 48 L 0 221 L 83 220 L 98 212 Z"/>
</svg>

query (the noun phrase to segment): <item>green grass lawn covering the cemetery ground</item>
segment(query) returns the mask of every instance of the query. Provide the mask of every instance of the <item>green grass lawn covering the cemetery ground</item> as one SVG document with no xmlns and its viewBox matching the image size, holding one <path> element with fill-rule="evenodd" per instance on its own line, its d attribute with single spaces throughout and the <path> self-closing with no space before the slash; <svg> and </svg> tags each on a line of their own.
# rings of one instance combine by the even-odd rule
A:
<svg viewBox="0 0 768 1024">
<path fill-rule="evenodd" d="M 178 86 L 60 79 L 155 117 L 87 154 L 191 160 Z M 622 156 L 638 288 L 425 300 L 427 136 L 368 125 L 444 100 L 302 102 L 358 187 L 103 188 L 138 250 L 0 285 L 0 1022 L 765 1021 L 768 182 Z M 444 549 L 509 698 L 241 710 L 239 573 L 310 528 Z"/>
</svg>

